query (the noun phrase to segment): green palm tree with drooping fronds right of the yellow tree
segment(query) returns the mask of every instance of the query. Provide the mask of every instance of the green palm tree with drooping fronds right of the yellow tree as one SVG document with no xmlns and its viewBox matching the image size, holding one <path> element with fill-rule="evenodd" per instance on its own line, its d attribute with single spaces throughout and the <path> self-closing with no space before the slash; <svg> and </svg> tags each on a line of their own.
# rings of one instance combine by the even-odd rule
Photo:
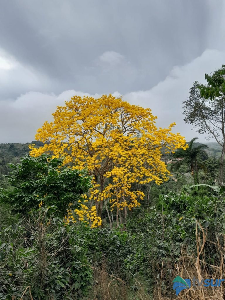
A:
<svg viewBox="0 0 225 300">
<path fill-rule="evenodd" d="M 205 172 L 207 171 L 206 166 L 202 164 L 201 161 L 198 160 L 198 158 L 204 154 L 206 155 L 206 152 L 204 149 L 208 148 L 207 145 L 201 144 L 197 147 L 195 147 L 194 142 L 198 140 L 198 137 L 194 137 L 190 142 L 188 143 L 188 148 L 186 150 L 178 149 L 174 153 L 175 158 L 183 158 L 182 160 L 176 162 L 171 166 L 171 171 L 173 169 L 179 170 L 179 168 L 182 165 L 187 165 L 190 167 L 191 175 L 193 176 L 194 183 L 199 184 L 199 177 L 198 177 L 198 170 L 203 169 Z"/>
</svg>

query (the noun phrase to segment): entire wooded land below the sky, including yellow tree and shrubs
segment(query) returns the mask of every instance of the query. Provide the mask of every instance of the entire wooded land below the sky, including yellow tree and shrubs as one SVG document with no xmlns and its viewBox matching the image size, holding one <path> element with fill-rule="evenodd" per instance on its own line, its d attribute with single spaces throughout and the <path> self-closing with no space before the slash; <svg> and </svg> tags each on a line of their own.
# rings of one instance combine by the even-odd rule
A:
<svg viewBox="0 0 225 300">
<path fill-rule="evenodd" d="M 225 66 L 205 80 L 190 141 L 109 94 L 0 144 L 0 299 L 225 299 Z"/>
</svg>

